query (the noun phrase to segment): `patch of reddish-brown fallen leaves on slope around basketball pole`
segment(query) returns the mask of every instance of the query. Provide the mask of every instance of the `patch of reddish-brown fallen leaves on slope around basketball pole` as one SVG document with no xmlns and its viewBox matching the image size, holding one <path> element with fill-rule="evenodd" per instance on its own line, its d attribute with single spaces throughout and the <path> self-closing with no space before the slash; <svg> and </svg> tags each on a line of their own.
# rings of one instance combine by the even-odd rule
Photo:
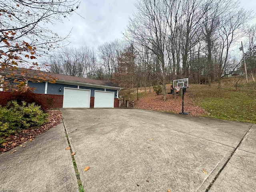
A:
<svg viewBox="0 0 256 192">
<path fill-rule="evenodd" d="M 174 99 L 174 95 L 166 94 L 166 101 L 164 101 L 163 95 L 150 93 L 148 96 L 144 96 L 138 101 L 135 101 L 134 107 L 146 110 L 179 113 L 182 111 L 182 96 L 178 96 L 177 94 Z M 197 106 L 192 98 L 188 96 L 188 92 L 184 95 L 184 112 L 190 112 L 191 116 L 206 114 L 205 110 Z"/>
</svg>

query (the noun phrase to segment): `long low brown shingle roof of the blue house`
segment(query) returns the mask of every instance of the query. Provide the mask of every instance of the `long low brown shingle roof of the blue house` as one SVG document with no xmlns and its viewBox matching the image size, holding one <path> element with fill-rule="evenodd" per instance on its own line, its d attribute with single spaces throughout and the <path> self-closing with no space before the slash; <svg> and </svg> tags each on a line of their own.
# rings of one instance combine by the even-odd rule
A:
<svg viewBox="0 0 256 192">
<path fill-rule="evenodd" d="M 28 72 L 29 76 L 23 76 L 22 72 Z M 52 78 L 56 78 L 57 83 L 70 83 L 70 84 L 83 84 L 84 86 L 102 86 L 102 87 L 112 87 L 116 89 L 120 89 L 121 87 L 113 84 L 111 82 L 107 81 L 100 81 L 100 80 L 95 80 L 95 79 L 90 79 L 90 78 L 83 78 L 83 77 L 75 77 L 75 76 L 69 76 L 69 75 L 62 75 L 62 74 L 55 74 L 55 73 L 50 73 L 50 72 L 45 72 L 45 71 L 40 71 L 40 70 L 32 70 L 32 69 L 26 69 L 26 68 L 17 68 L 17 70 L 10 70 L 10 69 L 1 69 L 0 68 L 0 74 L 11 74 L 14 73 L 16 76 L 23 76 L 24 78 L 34 78 L 36 79 L 37 76 L 51 76 Z"/>
</svg>

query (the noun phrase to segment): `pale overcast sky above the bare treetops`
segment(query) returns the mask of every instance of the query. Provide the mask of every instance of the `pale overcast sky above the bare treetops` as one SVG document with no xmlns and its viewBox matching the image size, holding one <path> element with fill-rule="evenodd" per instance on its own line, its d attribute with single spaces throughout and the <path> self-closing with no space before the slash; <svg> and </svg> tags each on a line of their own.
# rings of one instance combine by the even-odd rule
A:
<svg viewBox="0 0 256 192">
<path fill-rule="evenodd" d="M 122 38 L 129 16 L 136 12 L 134 4 L 137 0 L 81 0 L 77 11 L 69 20 L 54 26 L 54 32 L 61 36 L 70 34 L 70 45 L 78 48 L 98 45 Z M 256 12 L 256 0 L 242 0 L 241 6 Z M 256 19 L 252 21 L 256 23 Z"/>
</svg>

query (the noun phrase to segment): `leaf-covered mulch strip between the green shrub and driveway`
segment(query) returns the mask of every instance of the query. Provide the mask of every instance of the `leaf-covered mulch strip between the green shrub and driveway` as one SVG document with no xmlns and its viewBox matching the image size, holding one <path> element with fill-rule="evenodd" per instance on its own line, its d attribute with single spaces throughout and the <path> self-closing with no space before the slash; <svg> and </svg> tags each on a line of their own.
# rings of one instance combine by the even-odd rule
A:
<svg viewBox="0 0 256 192">
<path fill-rule="evenodd" d="M 16 146 L 20 146 L 21 144 L 21 147 L 25 147 L 26 142 L 33 141 L 37 135 L 42 134 L 50 128 L 56 127 L 56 125 L 60 124 L 62 114 L 59 110 L 48 111 L 48 114 L 48 122 L 42 125 L 40 128 L 23 129 L 18 134 L 2 137 L 4 140 L 6 140 L 6 142 L 0 146 L 0 154 L 9 151 Z"/>
</svg>

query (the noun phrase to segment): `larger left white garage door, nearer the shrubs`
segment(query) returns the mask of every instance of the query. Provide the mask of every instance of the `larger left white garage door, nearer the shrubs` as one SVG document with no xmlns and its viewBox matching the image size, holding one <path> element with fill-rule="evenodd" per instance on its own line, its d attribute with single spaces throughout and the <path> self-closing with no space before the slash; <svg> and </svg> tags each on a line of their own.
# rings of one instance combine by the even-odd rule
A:
<svg viewBox="0 0 256 192">
<path fill-rule="evenodd" d="M 89 108 L 90 90 L 64 88 L 63 108 Z"/>
</svg>

